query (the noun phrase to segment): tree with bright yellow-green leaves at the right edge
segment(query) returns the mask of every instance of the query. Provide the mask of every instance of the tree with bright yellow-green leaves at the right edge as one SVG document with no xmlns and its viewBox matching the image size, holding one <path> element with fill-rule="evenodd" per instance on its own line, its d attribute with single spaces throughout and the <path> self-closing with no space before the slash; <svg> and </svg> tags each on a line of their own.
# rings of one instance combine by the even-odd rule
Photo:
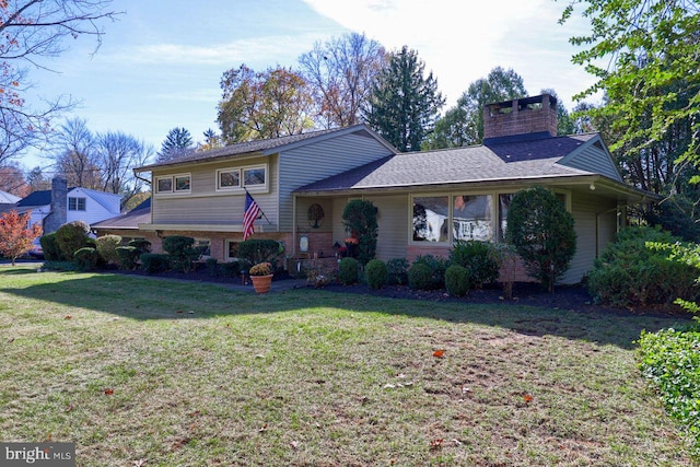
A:
<svg viewBox="0 0 700 467">
<path fill-rule="evenodd" d="M 597 81 L 576 98 L 604 92 L 590 115 L 609 125 L 610 150 L 638 187 L 681 191 L 699 178 L 700 3 L 697 0 L 571 0 L 561 23 L 579 9 L 587 34 L 573 61 Z"/>
</svg>

